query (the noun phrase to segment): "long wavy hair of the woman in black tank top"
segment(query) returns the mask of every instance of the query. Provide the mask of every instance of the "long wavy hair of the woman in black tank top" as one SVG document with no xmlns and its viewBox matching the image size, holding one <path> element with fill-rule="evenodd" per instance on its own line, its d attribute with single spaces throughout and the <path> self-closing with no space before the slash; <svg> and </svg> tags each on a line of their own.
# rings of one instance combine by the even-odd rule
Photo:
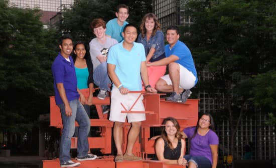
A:
<svg viewBox="0 0 276 168">
<path fill-rule="evenodd" d="M 180 140 L 182 135 L 180 133 L 180 126 L 179 126 L 178 121 L 174 117 L 169 116 L 169 117 L 167 117 L 163 120 L 162 124 L 165 125 L 167 121 L 172 121 L 174 123 L 174 125 L 176 127 L 175 137 L 177 137 L 177 139 Z M 164 126 L 163 129 L 162 129 L 161 137 L 168 142 L 170 148 L 173 148 L 173 143 L 168 139 L 168 135 L 167 135 L 167 132 L 165 130 L 165 127 L 166 126 Z"/>
</svg>

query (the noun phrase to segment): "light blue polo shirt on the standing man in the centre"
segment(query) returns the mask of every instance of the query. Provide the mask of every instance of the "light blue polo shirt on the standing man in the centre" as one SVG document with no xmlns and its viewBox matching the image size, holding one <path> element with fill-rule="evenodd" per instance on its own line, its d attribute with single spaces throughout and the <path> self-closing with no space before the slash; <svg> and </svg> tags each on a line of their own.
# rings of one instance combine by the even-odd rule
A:
<svg viewBox="0 0 276 168">
<path fill-rule="evenodd" d="M 122 42 L 110 48 L 107 63 L 116 65 L 115 73 L 124 87 L 140 91 L 142 90 L 141 62 L 146 61 L 144 46 L 133 42 L 133 47 L 128 51 L 122 46 Z"/>
</svg>

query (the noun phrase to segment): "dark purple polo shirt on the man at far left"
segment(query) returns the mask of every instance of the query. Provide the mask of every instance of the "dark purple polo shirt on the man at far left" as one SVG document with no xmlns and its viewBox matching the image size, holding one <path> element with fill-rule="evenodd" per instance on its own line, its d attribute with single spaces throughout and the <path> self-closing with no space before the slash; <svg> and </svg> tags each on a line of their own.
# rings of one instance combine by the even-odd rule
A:
<svg viewBox="0 0 276 168">
<path fill-rule="evenodd" d="M 59 95 L 57 83 L 63 83 L 68 101 L 78 99 L 80 96 L 77 91 L 77 77 L 74 62 L 71 56 L 69 56 L 69 59 L 71 62 L 67 61 L 59 52 L 52 64 L 55 99 L 57 105 L 64 103 Z"/>
</svg>

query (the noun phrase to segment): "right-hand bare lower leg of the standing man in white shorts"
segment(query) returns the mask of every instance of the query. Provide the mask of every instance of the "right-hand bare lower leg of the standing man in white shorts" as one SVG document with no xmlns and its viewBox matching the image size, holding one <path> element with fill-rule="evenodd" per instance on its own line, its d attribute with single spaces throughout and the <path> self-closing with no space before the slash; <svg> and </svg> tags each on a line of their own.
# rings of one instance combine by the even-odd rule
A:
<svg viewBox="0 0 276 168">
<path fill-rule="evenodd" d="M 141 123 L 142 123 L 141 121 L 131 122 L 131 128 L 127 135 L 127 147 L 126 147 L 126 151 L 125 151 L 125 154 L 127 154 L 127 155 L 133 155 L 132 148 L 133 148 L 133 145 L 140 133 Z"/>
</svg>

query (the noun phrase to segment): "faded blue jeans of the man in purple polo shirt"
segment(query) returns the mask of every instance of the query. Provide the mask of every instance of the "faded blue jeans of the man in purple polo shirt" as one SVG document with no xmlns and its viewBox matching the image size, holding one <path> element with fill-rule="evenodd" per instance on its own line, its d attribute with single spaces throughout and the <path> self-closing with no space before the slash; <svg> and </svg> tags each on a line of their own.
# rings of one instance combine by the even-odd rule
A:
<svg viewBox="0 0 276 168">
<path fill-rule="evenodd" d="M 65 114 L 64 103 L 59 104 L 61 118 L 62 118 L 62 134 L 60 138 L 60 152 L 59 159 L 60 164 L 71 159 L 70 148 L 71 148 L 71 137 L 75 130 L 75 120 L 79 123 L 79 134 L 78 134 L 78 145 L 77 152 L 78 156 L 86 156 L 89 150 L 89 144 L 87 135 L 90 131 L 90 119 L 78 99 L 69 101 L 70 107 L 72 108 L 72 115 L 67 116 Z"/>
</svg>

